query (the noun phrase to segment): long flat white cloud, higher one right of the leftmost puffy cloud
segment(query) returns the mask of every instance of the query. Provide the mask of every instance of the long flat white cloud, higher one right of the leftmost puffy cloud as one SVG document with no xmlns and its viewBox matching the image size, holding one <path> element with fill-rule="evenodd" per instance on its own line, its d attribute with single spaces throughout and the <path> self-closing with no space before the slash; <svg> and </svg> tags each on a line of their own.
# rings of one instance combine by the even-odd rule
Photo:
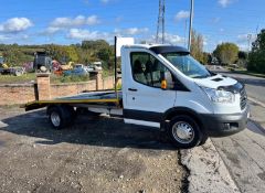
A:
<svg viewBox="0 0 265 193">
<path fill-rule="evenodd" d="M 100 21 L 97 15 L 83 17 L 78 15 L 76 18 L 56 18 L 50 24 L 53 28 L 73 28 L 73 26 L 82 26 L 82 25 L 95 25 Z"/>
</svg>

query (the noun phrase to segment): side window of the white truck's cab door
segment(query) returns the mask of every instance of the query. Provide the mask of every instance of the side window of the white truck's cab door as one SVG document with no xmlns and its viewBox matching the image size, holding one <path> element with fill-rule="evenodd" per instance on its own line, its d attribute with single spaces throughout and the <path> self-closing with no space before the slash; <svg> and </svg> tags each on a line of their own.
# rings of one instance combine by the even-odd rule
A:
<svg viewBox="0 0 265 193">
<path fill-rule="evenodd" d="M 162 79 L 168 81 L 168 88 L 174 87 L 171 72 L 155 56 L 145 52 L 130 54 L 132 77 L 136 82 L 151 87 L 161 87 Z"/>
</svg>

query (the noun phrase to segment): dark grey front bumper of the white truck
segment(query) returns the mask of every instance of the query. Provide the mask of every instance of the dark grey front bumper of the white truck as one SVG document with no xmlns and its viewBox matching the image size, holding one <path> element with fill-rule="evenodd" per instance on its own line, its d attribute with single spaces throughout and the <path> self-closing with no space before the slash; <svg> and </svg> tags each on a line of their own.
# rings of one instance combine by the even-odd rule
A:
<svg viewBox="0 0 265 193">
<path fill-rule="evenodd" d="M 201 114 L 203 130 L 210 137 L 225 137 L 240 132 L 246 128 L 250 107 L 241 114 Z"/>
</svg>

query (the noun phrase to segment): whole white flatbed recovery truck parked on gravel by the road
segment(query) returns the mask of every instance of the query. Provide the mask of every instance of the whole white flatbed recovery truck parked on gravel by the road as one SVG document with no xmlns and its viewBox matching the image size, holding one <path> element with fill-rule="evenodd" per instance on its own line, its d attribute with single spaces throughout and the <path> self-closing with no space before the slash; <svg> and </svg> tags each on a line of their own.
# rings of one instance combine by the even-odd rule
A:
<svg viewBox="0 0 265 193">
<path fill-rule="evenodd" d="M 246 127 L 244 85 L 208 71 L 183 47 L 123 46 L 121 81 L 121 90 L 36 100 L 24 108 L 46 107 L 55 129 L 72 124 L 77 108 L 119 116 L 125 124 L 160 129 L 178 148 L 192 148 L 208 137 L 230 136 Z"/>
</svg>

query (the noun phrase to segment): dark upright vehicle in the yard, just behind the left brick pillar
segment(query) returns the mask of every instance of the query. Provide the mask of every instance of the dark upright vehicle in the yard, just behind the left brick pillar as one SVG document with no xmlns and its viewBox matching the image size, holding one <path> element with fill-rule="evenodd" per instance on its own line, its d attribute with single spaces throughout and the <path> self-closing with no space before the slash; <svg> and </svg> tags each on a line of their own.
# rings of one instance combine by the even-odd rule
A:
<svg viewBox="0 0 265 193">
<path fill-rule="evenodd" d="M 38 72 L 52 72 L 52 58 L 45 52 L 35 52 L 33 67 Z"/>
</svg>

